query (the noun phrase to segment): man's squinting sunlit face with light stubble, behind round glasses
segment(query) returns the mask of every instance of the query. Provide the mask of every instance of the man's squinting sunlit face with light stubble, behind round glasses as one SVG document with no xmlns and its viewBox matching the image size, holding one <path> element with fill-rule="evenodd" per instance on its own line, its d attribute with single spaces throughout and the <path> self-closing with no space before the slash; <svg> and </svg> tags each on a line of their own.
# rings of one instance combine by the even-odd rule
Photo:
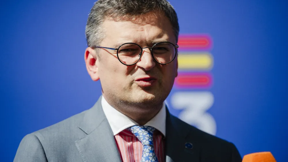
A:
<svg viewBox="0 0 288 162">
<path fill-rule="evenodd" d="M 101 47 L 118 48 L 124 43 L 137 43 L 143 48 L 152 47 L 155 42 L 177 43 L 170 21 L 161 12 L 133 19 L 107 18 L 102 27 L 105 38 Z M 171 63 L 160 65 L 149 48 L 145 48 L 137 64 L 126 66 L 117 59 L 117 50 L 100 48 L 96 52 L 100 59 L 96 56 L 95 74 L 100 79 L 103 96 L 110 104 L 161 104 L 170 93 L 177 76 L 177 56 Z"/>
</svg>

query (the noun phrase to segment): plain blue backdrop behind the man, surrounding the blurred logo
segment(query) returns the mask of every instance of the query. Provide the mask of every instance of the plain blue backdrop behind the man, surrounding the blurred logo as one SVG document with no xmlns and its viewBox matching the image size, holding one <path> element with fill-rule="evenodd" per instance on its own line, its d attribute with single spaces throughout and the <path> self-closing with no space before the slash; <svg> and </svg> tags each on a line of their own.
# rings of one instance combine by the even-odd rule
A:
<svg viewBox="0 0 288 162">
<path fill-rule="evenodd" d="M 90 108 L 100 96 L 100 82 L 90 79 L 84 64 L 93 3 L 1 1 L 0 161 L 13 160 L 24 135 Z M 181 34 L 213 38 L 209 91 L 215 102 L 209 113 L 216 135 L 233 142 L 242 156 L 271 151 L 278 162 L 287 161 L 288 2 L 170 3 Z"/>
</svg>

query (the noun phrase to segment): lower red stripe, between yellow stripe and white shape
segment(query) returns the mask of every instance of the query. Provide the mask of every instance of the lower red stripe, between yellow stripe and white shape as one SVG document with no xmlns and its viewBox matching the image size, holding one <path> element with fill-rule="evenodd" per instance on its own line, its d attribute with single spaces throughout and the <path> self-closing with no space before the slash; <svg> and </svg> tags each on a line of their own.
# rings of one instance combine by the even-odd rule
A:
<svg viewBox="0 0 288 162">
<path fill-rule="evenodd" d="M 210 88 L 212 85 L 210 73 L 179 73 L 175 78 L 177 88 Z"/>
</svg>

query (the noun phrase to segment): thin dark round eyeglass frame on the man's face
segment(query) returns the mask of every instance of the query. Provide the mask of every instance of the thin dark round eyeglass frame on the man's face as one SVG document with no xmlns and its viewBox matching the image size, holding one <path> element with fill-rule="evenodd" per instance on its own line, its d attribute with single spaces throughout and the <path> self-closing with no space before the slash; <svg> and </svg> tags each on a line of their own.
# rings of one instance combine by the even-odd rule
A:
<svg viewBox="0 0 288 162">
<path fill-rule="evenodd" d="M 173 59 L 170 61 L 170 62 L 172 62 L 172 61 L 175 59 L 176 55 L 177 55 L 177 52 L 178 52 L 177 48 L 179 48 L 179 46 L 178 46 L 177 44 L 174 45 L 174 44 L 171 43 L 171 42 L 158 42 L 158 43 L 154 44 L 152 47 L 143 47 L 143 48 L 142 48 L 139 44 L 136 44 L 136 43 L 124 43 L 124 44 L 120 45 L 118 48 L 109 48 L 109 47 L 100 47 L 100 46 L 96 46 L 96 47 L 94 47 L 94 48 L 105 48 L 105 49 L 110 49 L 110 50 L 117 50 L 117 58 L 118 58 L 118 60 L 120 61 L 120 63 L 122 63 L 122 61 L 119 59 L 119 56 L 118 56 L 118 51 L 119 51 L 120 47 L 123 46 L 123 45 L 125 45 L 125 44 L 135 44 L 135 45 L 139 46 L 139 48 L 141 48 L 141 53 L 140 53 L 139 59 L 138 59 L 135 63 L 133 63 L 133 64 L 131 64 L 131 65 L 122 63 L 122 64 L 124 64 L 124 65 L 126 65 L 126 66 L 132 66 L 132 65 L 135 65 L 136 63 L 139 62 L 139 60 L 141 59 L 141 57 L 142 57 L 142 55 L 143 55 L 143 49 L 144 49 L 144 48 L 149 48 L 153 59 L 154 59 L 157 63 L 159 63 L 159 62 L 154 58 L 154 55 L 153 55 L 153 47 L 155 47 L 157 44 L 160 44 L 160 43 L 170 43 L 170 44 L 172 44 L 172 45 L 174 46 L 174 48 L 175 48 L 175 56 L 174 56 Z M 168 62 L 168 63 L 170 63 L 170 62 Z M 163 63 L 159 63 L 159 64 L 161 64 L 161 65 L 167 65 L 168 63 L 164 63 L 164 64 L 163 64 Z"/>
</svg>

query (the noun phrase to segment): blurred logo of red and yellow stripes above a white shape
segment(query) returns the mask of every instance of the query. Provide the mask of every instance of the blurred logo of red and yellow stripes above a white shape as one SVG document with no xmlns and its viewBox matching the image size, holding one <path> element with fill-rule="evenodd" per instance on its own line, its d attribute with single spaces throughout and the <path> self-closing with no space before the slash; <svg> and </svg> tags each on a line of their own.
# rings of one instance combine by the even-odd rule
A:
<svg viewBox="0 0 288 162">
<path fill-rule="evenodd" d="M 213 85 L 212 38 L 209 34 L 180 35 L 178 45 L 179 69 L 174 83 L 178 91 L 171 96 L 171 106 L 182 110 L 178 116 L 181 120 L 215 135 L 215 119 L 207 112 L 214 103 L 209 91 Z"/>
</svg>

